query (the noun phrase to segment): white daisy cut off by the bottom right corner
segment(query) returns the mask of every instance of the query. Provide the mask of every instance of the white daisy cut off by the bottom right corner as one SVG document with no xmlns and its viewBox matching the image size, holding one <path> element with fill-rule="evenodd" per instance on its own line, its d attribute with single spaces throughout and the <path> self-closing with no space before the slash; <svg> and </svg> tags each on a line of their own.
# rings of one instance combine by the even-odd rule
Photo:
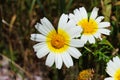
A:
<svg viewBox="0 0 120 80">
<path fill-rule="evenodd" d="M 118 56 L 107 63 L 106 72 L 111 76 L 104 80 L 120 80 L 120 58 Z"/>
</svg>

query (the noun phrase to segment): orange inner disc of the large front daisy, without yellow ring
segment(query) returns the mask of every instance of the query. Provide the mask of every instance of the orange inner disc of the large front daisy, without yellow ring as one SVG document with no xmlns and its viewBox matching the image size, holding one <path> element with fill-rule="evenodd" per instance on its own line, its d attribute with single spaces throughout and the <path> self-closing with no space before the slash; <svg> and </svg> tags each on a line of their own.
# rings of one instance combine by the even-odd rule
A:
<svg viewBox="0 0 120 80">
<path fill-rule="evenodd" d="M 51 39 L 51 45 L 56 49 L 63 47 L 65 45 L 64 36 L 60 34 L 54 34 Z"/>
</svg>

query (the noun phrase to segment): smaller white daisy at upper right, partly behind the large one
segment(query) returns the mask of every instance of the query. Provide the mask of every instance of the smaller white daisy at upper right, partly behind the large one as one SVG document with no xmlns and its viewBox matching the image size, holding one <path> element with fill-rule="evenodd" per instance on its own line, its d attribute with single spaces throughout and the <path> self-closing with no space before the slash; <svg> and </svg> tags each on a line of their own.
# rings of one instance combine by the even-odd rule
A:
<svg viewBox="0 0 120 80">
<path fill-rule="evenodd" d="M 95 38 L 101 38 L 101 34 L 109 35 L 110 30 L 105 29 L 110 26 L 109 22 L 101 22 L 104 17 L 98 16 L 98 8 L 93 8 L 90 17 L 84 7 L 74 10 L 74 14 L 70 13 L 69 18 L 74 20 L 76 25 L 83 29 L 81 40 L 84 43 L 95 43 Z"/>
</svg>

